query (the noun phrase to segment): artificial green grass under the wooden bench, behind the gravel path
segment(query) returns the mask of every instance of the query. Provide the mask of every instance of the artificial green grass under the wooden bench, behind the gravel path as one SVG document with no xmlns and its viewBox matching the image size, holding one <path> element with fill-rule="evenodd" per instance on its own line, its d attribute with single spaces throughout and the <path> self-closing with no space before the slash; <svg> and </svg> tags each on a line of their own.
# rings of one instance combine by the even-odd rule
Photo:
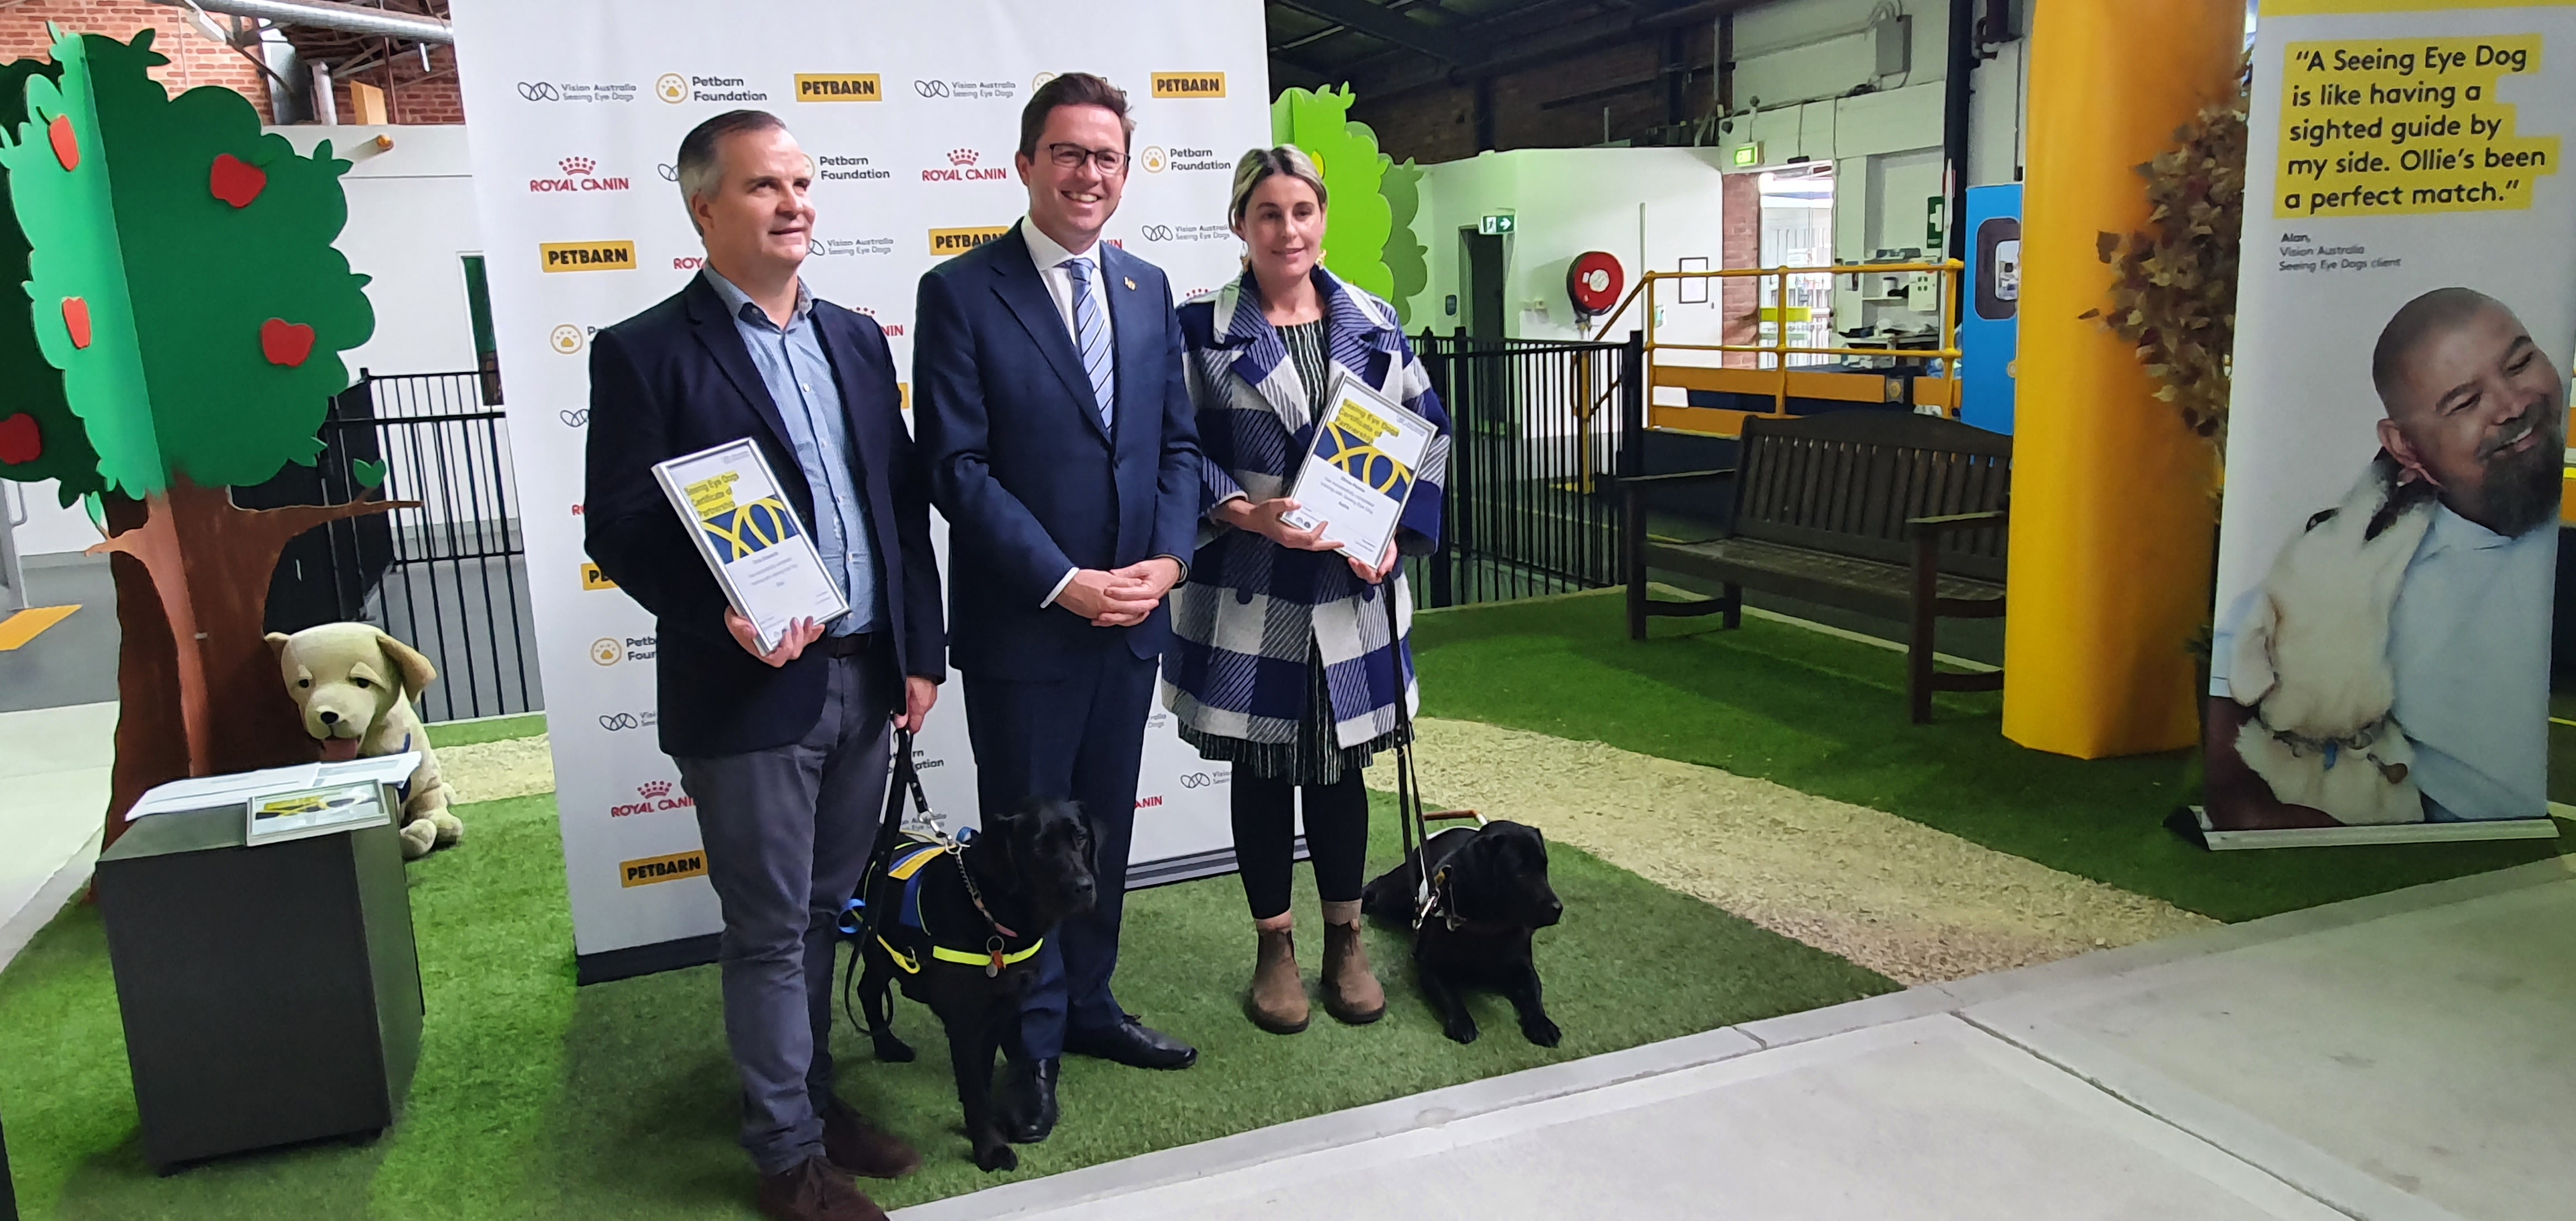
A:
<svg viewBox="0 0 2576 1221">
<path fill-rule="evenodd" d="M 2558 853 L 2550 840 L 2205 853 L 2164 829 L 2190 752 L 2071 760 L 1999 732 L 2002 696 L 1942 693 L 1906 719 L 1904 654 L 1744 618 L 1656 621 L 1631 641 L 1618 590 L 1417 618 L 1422 711 L 1705 762 L 1899 814 L 1963 840 L 2251 920 Z"/>
</svg>

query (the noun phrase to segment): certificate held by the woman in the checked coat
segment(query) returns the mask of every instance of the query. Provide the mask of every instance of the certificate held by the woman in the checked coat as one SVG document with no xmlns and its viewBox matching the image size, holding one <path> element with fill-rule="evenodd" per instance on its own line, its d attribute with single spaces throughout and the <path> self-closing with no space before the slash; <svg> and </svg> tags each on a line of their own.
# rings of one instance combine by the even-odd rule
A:
<svg viewBox="0 0 2576 1221">
<path fill-rule="evenodd" d="M 1296 471 L 1288 497 L 1298 502 L 1283 520 L 1301 531 L 1324 525 L 1324 538 L 1350 559 L 1376 567 L 1396 538 L 1404 502 L 1414 495 L 1414 469 L 1440 435 L 1430 420 L 1345 374 L 1314 425 L 1314 446 Z"/>
</svg>

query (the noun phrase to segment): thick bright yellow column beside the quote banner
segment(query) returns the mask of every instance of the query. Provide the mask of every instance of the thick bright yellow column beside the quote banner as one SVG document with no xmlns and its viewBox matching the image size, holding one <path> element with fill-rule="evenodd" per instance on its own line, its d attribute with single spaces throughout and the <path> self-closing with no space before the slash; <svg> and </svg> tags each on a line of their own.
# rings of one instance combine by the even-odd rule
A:
<svg viewBox="0 0 2576 1221">
<path fill-rule="evenodd" d="M 2133 165 L 2233 93 L 2244 0 L 2043 0 L 2030 41 L 2020 410 L 2004 737 L 2058 755 L 2177 750 L 2197 732 L 2187 641 L 2210 610 L 2208 448 L 2136 353 L 2094 240 L 2146 224 Z"/>
</svg>

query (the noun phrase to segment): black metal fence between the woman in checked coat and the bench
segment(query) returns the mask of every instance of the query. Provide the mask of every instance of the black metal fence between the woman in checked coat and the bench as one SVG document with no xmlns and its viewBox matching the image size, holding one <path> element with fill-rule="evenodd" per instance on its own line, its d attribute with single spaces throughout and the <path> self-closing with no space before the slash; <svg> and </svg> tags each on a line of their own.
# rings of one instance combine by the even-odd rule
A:
<svg viewBox="0 0 2576 1221">
<path fill-rule="evenodd" d="M 1414 353 L 1455 433 L 1443 549 L 1409 569 L 1422 605 L 1618 585 L 1613 477 L 1641 348 L 1425 332 Z"/>
</svg>

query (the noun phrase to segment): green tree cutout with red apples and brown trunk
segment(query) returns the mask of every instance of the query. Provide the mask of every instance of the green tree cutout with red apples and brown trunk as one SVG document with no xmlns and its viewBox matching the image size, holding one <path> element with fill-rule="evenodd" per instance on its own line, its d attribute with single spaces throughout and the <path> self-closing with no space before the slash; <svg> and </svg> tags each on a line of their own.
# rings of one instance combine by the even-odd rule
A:
<svg viewBox="0 0 2576 1221">
<path fill-rule="evenodd" d="M 255 513 L 227 492 L 314 461 L 350 381 L 340 353 L 376 330 L 366 276 L 332 250 L 348 162 L 260 134 L 240 93 L 170 98 L 152 31 L 52 33 L 54 62 L 13 64 L 23 93 L 0 111 L 28 296 L 0 314 L 0 374 L 41 446 L 0 477 L 106 502 L 93 551 L 116 556 L 124 626 L 113 840 L 155 783 L 314 757 L 263 641 L 268 580 L 289 538 L 394 505 Z"/>
</svg>

